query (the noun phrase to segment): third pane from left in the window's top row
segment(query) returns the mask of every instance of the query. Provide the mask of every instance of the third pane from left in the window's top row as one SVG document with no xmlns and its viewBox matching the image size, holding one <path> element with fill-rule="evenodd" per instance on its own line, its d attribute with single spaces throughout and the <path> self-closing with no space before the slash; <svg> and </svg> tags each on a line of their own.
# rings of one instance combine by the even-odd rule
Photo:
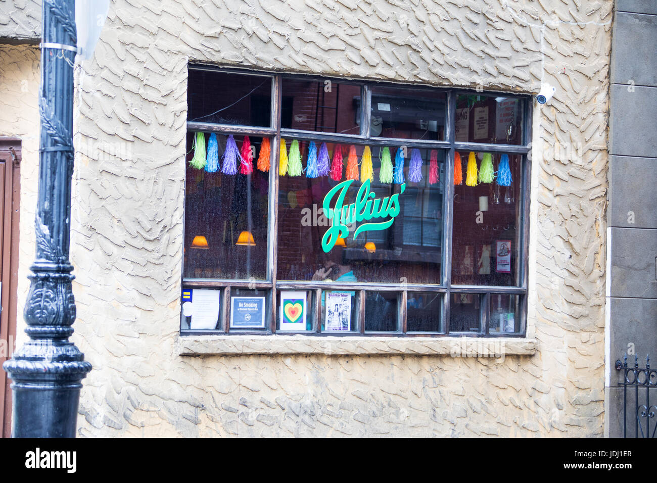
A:
<svg viewBox="0 0 657 483">
<path fill-rule="evenodd" d="M 445 139 L 445 94 L 409 87 L 372 87 L 373 137 Z"/>
</svg>

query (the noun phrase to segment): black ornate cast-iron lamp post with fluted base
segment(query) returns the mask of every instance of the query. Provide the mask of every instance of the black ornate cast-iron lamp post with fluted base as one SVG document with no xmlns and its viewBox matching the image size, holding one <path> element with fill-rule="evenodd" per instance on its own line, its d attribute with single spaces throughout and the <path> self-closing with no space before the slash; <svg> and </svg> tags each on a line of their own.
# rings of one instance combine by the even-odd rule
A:
<svg viewBox="0 0 657 483">
<path fill-rule="evenodd" d="M 81 380 L 91 364 L 68 337 L 76 304 L 71 282 L 74 0 L 43 0 L 41 137 L 36 260 L 24 317 L 30 340 L 3 368 L 13 380 L 14 438 L 73 438 Z"/>
</svg>

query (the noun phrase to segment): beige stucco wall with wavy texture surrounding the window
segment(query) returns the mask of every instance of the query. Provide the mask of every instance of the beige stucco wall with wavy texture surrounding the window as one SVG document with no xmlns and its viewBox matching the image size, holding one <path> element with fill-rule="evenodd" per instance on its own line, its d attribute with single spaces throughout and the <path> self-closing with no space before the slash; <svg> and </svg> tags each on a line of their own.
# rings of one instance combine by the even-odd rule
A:
<svg viewBox="0 0 657 483">
<path fill-rule="evenodd" d="M 600 436 L 611 11 L 610 0 L 112 1 L 78 75 L 74 340 L 94 366 L 79 434 Z M 556 85 L 533 118 L 537 354 L 179 356 L 190 60 L 523 92 Z M 575 154 L 553 155 L 570 143 Z"/>
</svg>

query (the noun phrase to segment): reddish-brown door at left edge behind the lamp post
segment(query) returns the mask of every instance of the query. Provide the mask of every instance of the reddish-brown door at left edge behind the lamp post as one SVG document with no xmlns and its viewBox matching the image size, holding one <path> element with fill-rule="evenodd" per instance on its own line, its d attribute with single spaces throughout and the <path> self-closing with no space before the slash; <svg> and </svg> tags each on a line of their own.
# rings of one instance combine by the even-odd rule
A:
<svg viewBox="0 0 657 483">
<path fill-rule="evenodd" d="M 0 137 L 0 366 L 16 340 L 20 139 Z M 0 369 L 0 436 L 11 436 L 11 380 Z"/>
</svg>

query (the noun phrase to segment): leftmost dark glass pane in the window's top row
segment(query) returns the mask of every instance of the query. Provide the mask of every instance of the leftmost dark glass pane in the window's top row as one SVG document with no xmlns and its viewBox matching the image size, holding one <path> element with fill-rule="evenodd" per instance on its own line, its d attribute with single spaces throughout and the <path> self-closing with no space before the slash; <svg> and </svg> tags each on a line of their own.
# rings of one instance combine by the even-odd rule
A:
<svg viewBox="0 0 657 483">
<path fill-rule="evenodd" d="M 189 69 L 187 120 L 271 127 L 271 77 Z"/>
</svg>

